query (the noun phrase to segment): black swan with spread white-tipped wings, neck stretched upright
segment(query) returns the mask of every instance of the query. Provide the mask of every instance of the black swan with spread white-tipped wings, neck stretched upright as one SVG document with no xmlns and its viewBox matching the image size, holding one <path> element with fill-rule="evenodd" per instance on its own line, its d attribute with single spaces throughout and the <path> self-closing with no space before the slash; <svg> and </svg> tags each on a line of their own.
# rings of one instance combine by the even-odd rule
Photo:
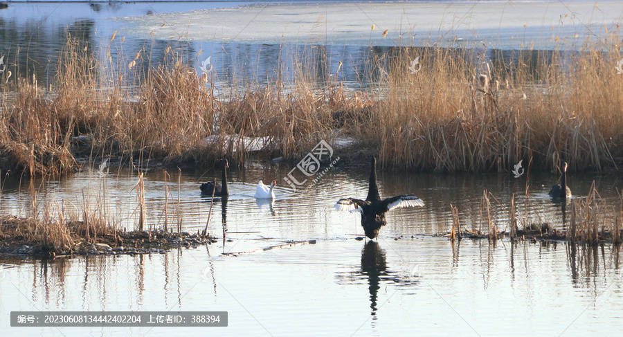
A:
<svg viewBox="0 0 623 337">
<path fill-rule="evenodd" d="M 424 201 L 413 195 L 397 195 L 387 199 L 381 199 L 377 186 L 377 159 L 372 156 L 370 167 L 370 187 L 368 197 L 365 200 L 354 198 L 339 199 L 335 204 L 336 210 L 350 210 L 361 212 L 361 226 L 365 236 L 374 239 L 379 235 L 381 226 L 386 224 L 385 213 L 399 207 L 424 206 Z"/>
</svg>

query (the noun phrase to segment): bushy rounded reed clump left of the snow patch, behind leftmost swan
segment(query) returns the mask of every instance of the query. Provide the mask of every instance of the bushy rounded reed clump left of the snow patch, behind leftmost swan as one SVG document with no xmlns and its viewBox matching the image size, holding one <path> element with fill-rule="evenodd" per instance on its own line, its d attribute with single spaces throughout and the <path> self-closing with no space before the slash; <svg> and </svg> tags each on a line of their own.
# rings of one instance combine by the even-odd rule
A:
<svg viewBox="0 0 623 337">
<path fill-rule="evenodd" d="M 215 104 L 188 66 L 161 65 L 147 75 L 138 102 L 118 107 L 107 120 L 102 136 L 114 135 L 121 151 L 183 160 L 213 134 Z"/>
</svg>

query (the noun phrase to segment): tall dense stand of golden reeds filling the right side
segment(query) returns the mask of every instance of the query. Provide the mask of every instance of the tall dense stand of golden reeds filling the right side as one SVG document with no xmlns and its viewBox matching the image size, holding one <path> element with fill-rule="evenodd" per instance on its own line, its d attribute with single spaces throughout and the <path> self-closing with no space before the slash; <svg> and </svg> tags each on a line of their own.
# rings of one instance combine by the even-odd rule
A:
<svg viewBox="0 0 623 337">
<path fill-rule="evenodd" d="M 517 60 L 485 63 L 451 48 L 401 49 L 373 113 L 381 157 L 437 172 L 502 171 L 522 158 L 536 169 L 560 158 L 577 170 L 614 166 L 623 155 L 623 88 L 612 51 L 518 51 Z M 422 70 L 412 74 L 417 55 Z"/>
</svg>

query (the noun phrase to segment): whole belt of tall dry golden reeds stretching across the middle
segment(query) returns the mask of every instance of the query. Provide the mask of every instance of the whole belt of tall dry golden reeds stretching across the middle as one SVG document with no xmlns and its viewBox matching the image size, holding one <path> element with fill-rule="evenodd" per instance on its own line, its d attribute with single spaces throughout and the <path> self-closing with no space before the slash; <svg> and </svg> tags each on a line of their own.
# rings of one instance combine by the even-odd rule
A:
<svg viewBox="0 0 623 337">
<path fill-rule="evenodd" d="M 295 57 L 294 80 L 278 66 L 266 84 L 240 88 L 197 73 L 183 49 L 168 48 L 154 65 L 145 48 L 123 55 L 123 40 L 112 37 L 109 48 L 121 56 L 109 49 L 101 62 L 69 38 L 50 89 L 17 76 L 3 86 L 0 170 L 70 172 L 77 136 L 89 136 L 93 156 L 201 165 L 217 156 L 243 161 L 241 137 L 268 137 L 264 154 L 302 156 L 319 139 L 333 140 L 334 129 L 357 140 L 344 157 L 377 152 L 381 165 L 407 170 L 501 172 L 521 159 L 533 170 L 561 161 L 572 170 L 618 169 L 618 39 L 489 58 L 432 41 L 392 48 L 370 58 L 372 89 L 363 91 L 336 80 L 328 56 L 320 67 Z M 422 67 L 412 73 L 415 57 Z M 321 88 L 312 84 L 318 74 Z"/>
</svg>

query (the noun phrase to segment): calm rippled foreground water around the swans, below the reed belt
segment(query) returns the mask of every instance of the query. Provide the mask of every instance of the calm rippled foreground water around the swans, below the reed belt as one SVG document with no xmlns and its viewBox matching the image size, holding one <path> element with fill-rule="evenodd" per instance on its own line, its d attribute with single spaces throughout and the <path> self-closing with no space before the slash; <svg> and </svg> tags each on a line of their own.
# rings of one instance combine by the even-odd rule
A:
<svg viewBox="0 0 623 337">
<path fill-rule="evenodd" d="M 219 242 L 207 248 L 43 262 L 3 257 L 0 311 L 6 315 L 0 325 L 11 336 L 30 336 L 35 329 L 46 336 L 168 336 L 199 330 L 31 330 L 8 327 L 8 312 L 212 310 L 229 312 L 228 327 L 208 330 L 226 336 L 575 336 L 608 335 L 623 327 L 622 254 L 610 245 L 503 241 L 493 246 L 464 239 L 453 246 L 444 237 L 430 236 L 449 230 L 450 203 L 458 206 L 463 226 L 478 228 L 485 188 L 505 207 L 516 193 L 521 212 L 525 176 L 379 172 L 381 195 L 413 193 L 426 206 L 392 210 L 379 238 L 366 243 L 354 239 L 363 235 L 359 215 L 337 212 L 332 205 L 340 197 L 365 197 L 367 167 L 338 166 L 304 190 L 280 187 L 273 203 L 255 201 L 258 180 L 282 181 L 289 170 L 288 163 L 259 161 L 231 170 L 231 196 L 226 203 L 216 199 L 210 217 L 210 233 Z M 168 183 L 163 170 L 146 174 L 147 224 L 163 224 L 166 184 L 170 226 L 177 221 L 177 203 L 171 199 L 177 200 L 179 190 L 183 229 L 204 228 L 210 198 L 201 197 L 199 183 L 219 173 L 183 172 L 179 185 L 177 172 L 170 174 Z M 612 176 L 570 174 L 568 181 L 582 194 L 591 178 L 606 203 L 615 201 L 621 183 Z M 531 179 L 532 207 L 552 226 L 561 226 L 559 206 L 546 195 L 556 176 Z M 64 205 L 66 214 L 72 207 L 79 213 L 82 205 L 97 203 L 116 226 L 133 228 L 137 181 L 136 172 L 102 176 L 96 170 L 62 181 L 37 181 L 39 215 L 46 201 Z M 0 205 L 2 214 L 31 214 L 28 182 L 7 181 Z M 498 228 L 505 228 L 507 217 L 495 203 L 494 217 Z M 227 241 L 222 240 L 224 230 Z M 310 239 L 316 244 L 237 257 L 221 254 Z"/>
</svg>

